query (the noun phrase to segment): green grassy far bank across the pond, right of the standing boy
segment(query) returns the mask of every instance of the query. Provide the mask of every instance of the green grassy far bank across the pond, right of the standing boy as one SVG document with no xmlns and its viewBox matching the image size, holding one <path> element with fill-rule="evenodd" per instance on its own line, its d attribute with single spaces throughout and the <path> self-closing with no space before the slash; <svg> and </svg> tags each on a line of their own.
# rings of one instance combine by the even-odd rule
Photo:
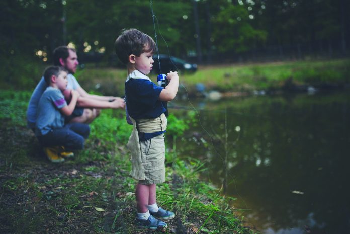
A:
<svg viewBox="0 0 350 234">
<path fill-rule="evenodd" d="M 190 90 L 197 83 L 207 90 L 253 91 L 281 88 L 292 78 L 298 85 L 341 85 L 350 81 L 349 59 L 268 63 L 262 65 L 221 66 L 184 74 L 181 81 Z"/>
</svg>

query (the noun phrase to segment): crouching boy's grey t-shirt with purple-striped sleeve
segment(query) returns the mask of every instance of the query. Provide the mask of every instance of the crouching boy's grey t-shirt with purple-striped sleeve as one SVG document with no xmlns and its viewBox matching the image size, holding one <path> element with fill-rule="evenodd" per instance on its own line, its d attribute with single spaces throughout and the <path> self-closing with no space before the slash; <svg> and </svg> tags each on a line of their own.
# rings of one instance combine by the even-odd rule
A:
<svg viewBox="0 0 350 234">
<path fill-rule="evenodd" d="M 46 135 L 50 130 L 64 126 L 64 115 L 59 109 L 66 106 L 62 92 L 51 86 L 41 95 L 37 109 L 35 135 Z"/>
</svg>

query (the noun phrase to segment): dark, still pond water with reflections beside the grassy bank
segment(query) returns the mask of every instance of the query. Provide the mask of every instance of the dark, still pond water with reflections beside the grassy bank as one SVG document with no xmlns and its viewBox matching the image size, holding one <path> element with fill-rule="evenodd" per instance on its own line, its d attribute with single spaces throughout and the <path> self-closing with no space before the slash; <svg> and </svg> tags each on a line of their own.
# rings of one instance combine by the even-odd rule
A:
<svg viewBox="0 0 350 234">
<path fill-rule="evenodd" d="M 190 100 L 203 127 L 191 124 L 177 153 L 207 162 L 203 178 L 227 184 L 247 225 L 268 234 L 350 233 L 348 92 Z M 169 106 L 179 117 L 193 112 L 188 101 Z"/>
</svg>

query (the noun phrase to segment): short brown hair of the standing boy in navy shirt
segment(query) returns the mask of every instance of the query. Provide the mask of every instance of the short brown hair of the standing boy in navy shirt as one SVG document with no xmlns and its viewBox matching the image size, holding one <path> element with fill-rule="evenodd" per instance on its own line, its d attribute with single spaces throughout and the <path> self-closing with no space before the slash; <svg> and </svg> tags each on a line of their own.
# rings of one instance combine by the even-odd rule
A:
<svg viewBox="0 0 350 234">
<path fill-rule="evenodd" d="M 140 56 L 144 52 L 156 52 L 157 46 L 153 39 L 137 29 L 123 29 L 114 43 L 119 60 L 126 65 L 129 55 Z"/>
</svg>

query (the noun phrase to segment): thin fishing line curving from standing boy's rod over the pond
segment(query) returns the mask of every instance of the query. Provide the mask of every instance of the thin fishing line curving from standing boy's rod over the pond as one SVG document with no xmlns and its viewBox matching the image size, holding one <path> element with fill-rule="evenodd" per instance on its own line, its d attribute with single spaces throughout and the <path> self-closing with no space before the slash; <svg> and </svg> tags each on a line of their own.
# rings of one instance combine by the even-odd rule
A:
<svg viewBox="0 0 350 234">
<path fill-rule="evenodd" d="M 154 12 L 153 12 L 153 3 L 152 3 L 152 0 L 150 0 L 150 7 L 151 7 L 151 11 L 152 11 L 154 33 L 155 33 L 155 35 L 156 35 L 155 21 L 154 21 L 154 19 L 155 19 L 156 22 L 157 22 L 157 28 L 158 28 L 159 35 L 161 36 L 161 38 L 163 39 L 163 41 L 164 41 L 164 43 L 165 43 L 165 45 L 166 45 L 167 52 L 168 52 L 168 55 L 169 55 L 169 59 L 170 59 L 172 65 L 176 68 L 176 70 L 177 70 L 178 73 L 179 73 L 178 67 L 173 63 L 173 61 L 172 61 L 172 59 L 171 59 L 169 46 L 168 46 L 166 40 L 164 39 L 163 35 L 161 34 L 161 31 L 160 31 L 160 28 L 159 28 L 158 19 L 157 19 L 157 17 L 155 16 L 155 14 L 154 14 Z M 155 36 L 155 37 L 156 37 L 156 36 Z M 156 39 L 156 38 L 155 38 L 155 39 Z M 157 39 L 156 39 L 156 40 L 157 40 Z M 159 60 L 159 51 L 158 51 L 158 44 L 157 44 L 157 41 L 156 41 L 156 45 L 157 45 L 157 53 L 158 53 L 158 63 L 160 64 L 160 60 Z M 160 65 L 159 65 L 159 70 L 160 70 Z M 184 85 L 181 81 L 179 81 L 179 83 L 180 83 L 181 86 L 185 89 L 187 100 L 189 101 L 189 103 L 190 103 L 191 107 L 193 108 L 193 110 L 196 112 L 197 117 L 198 117 L 198 121 L 199 121 L 199 124 L 200 124 L 201 128 L 202 128 L 202 129 L 207 133 L 207 135 L 209 136 L 214 151 L 216 152 L 217 155 L 219 155 L 219 157 L 220 157 L 221 161 L 223 162 L 223 164 L 225 164 L 225 161 L 224 161 L 224 159 L 222 158 L 221 154 L 217 151 L 217 149 L 216 149 L 215 146 L 214 146 L 214 141 L 213 141 L 213 138 L 212 138 L 211 134 L 210 134 L 210 133 L 205 129 L 205 127 L 203 126 L 202 121 L 201 121 L 200 116 L 199 116 L 199 112 L 198 112 L 197 109 L 193 106 L 193 104 L 192 104 L 192 102 L 191 102 L 191 100 L 190 100 L 190 98 L 189 98 L 189 94 L 188 94 L 187 88 L 185 87 L 185 85 Z M 226 165 L 226 164 L 225 164 L 225 165 Z M 243 201 L 245 207 L 247 208 L 247 205 L 246 205 L 246 203 L 245 203 L 245 200 L 244 200 L 244 199 L 239 195 L 239 193 L 238 193 L 235 179 L 234 179 L 231 175 L 229 175 L 229 176 L 230 176 L 230 178 L 232 179 L 232 181 L 233 181 L 233 183 L 234 183 L 234 185 L 235 185 L 237 195 L 238 195 L 239 198 Z"/>
</svg>

